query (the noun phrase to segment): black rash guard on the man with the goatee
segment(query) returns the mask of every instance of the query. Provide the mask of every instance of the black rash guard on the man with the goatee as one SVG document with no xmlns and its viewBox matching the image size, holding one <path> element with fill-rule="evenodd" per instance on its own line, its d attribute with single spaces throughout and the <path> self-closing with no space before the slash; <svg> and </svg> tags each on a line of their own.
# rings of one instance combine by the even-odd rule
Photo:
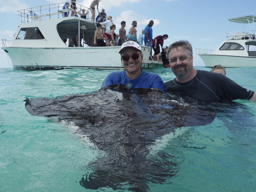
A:
<svg viewBox="0 0 256 192">
<path fill-rule="evenodd" d="M 196 71 L 196 76 L 186 83 L 179 83 L 176 78 L 165 82 L 166 92 L 208 100 L 249 100 L 254 94 L 222 74 Z"/>
</svg>

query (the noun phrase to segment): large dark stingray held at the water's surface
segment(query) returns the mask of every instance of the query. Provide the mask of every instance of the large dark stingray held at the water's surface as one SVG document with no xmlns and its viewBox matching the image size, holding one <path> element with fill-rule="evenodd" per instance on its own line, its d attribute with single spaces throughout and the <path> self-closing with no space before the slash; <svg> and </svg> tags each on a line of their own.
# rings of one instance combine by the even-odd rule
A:
<svg viewBox="0 0 256 192">
<path fill-rule="evenodd" d="M 216 116 L 178 102 L 159 89 L 130 89 L 122 84 L 25 101 L 26 110 L 34 116 L 55 116 L 74 123 L 102 152 L 88 164 L 91 171 L 80 180 L 88 189 L 128 186 L 128 190 L 146 192 L 149 183 L 164 183 L 176 174 L 176 164 L 150 156 L 156 140 L 175 128 L 210 124 Z"/>
</svg>

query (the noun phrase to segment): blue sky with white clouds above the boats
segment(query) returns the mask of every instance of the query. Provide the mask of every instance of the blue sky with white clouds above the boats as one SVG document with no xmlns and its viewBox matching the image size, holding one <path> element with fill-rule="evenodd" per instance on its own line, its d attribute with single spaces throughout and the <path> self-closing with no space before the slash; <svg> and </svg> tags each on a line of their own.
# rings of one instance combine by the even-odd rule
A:
<svg viewBox="0 0 256 192">
<path fill-rule="evenodd" d="M 89 7 L 92 0 L 76 0 Z M 58 0 L 0 0 L 0 46 L 2 39 L 13 40 L 20 16 L 17 10 L 61 3 Z M 132 21 L 137 21 L 137 36 L 150 20 L 154 21 L 153 38 L 168 34 L 164 46 L 178 40 L 188 40 L 193 47 L 194 66 L 204 66 L 196 48 L 215 50 L 225 40 L 229 18 L 256 15 L 255 0 L 101 0 L 99 10 L 105 9 L 116 24 L 126 21 L 128 33 Z M 154 52 L 154 51 L 153 51 Z M 0 68 L 12 67 L 7 54 L 0 49 Z"/>
</svg>

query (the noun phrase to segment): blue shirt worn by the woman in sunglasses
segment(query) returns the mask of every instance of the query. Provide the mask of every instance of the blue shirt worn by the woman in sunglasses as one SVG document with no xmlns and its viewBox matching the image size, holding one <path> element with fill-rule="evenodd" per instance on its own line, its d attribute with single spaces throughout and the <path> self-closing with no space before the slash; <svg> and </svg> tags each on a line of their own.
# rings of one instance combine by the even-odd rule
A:
<svg viewBox="0 0 256 192">
<path fill-rule="evenodd" d="M 126 71 L 122 72 L 112 72 L 108 74 L 104 82 L 101 85 L 102 87 L 114 84 L 123 84 L 129 88 L 157 88 L 166 92 L 164 82 L 157 74 L 148 73 L 146 71 L 141 71 L 141 74 L 135 79 L 129 79 L 126 75 Z"/>
</svg>

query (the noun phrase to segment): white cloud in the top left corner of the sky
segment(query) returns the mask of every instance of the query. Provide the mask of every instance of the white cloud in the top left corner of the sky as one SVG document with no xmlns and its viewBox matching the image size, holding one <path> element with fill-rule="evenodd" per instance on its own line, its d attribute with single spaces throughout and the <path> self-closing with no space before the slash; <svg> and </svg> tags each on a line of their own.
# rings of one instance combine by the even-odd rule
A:
<svg viewBox="0 0 256 192">
<path fill-rule="evenodd" d="M 26 9 L 27 7 L 27 4 L 20 3 L 18 0 L 0 0 L 0 12 L 17 13 L 17 10 Z"/>
</svg>

